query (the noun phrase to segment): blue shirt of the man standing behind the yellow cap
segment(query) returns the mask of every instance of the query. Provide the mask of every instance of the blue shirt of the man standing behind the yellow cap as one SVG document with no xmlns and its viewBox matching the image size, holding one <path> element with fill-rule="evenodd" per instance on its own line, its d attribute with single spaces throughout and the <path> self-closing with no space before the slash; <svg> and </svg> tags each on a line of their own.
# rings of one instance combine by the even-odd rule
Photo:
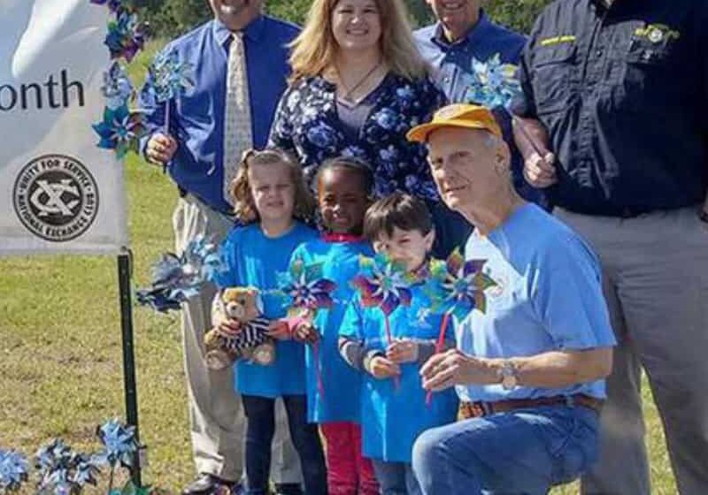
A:
<svg viewBox="0 0 708 495">
<path fill-rule="evenodd" d="M 420 55 L 431 66 L 431 78 L 450 103 L 469 102 L 468 92 L 473 81 L 473 58 L 484 62 L 498 54 L 503 64 L 518 65 L 521 51 L 526 44 L 526 37 L 495 24 L 484 11 L 480 11 L 477 24 L 457 42 L 447 41 L 440 22 L 423 27 L 414 35 Z M 504 141 L 512 149 L 514 186 L 527 200 L 545 206 L 543 192 L 529 186 L 523 177 L 522 159 L 512 138 L 511 118 L 502 109 L 497 109 L 495 114 L 502 126 Z"/>
</svg>

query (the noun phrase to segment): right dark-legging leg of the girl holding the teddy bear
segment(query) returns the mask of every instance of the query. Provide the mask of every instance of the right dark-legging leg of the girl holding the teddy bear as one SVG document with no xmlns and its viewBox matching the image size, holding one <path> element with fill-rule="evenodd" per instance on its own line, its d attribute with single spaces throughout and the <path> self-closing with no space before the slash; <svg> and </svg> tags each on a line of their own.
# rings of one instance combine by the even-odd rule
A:
<svg viewBox="0 0 708 495">
<path fill-rule="evenodd" d="M 300 456 L 303 469 L 304 492 L 307 495 L 327 495 L 327 467 L 317 424 L 307 423 L 307 397 L 284 395 L 288 413 L 290 438 Z"/>
</svg>

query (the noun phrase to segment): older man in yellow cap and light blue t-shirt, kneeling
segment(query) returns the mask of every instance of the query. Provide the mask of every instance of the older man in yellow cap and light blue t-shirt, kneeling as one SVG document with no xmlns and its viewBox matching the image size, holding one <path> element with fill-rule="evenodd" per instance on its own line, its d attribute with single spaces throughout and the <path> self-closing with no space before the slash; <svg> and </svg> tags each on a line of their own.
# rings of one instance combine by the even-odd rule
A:
<svg viewBox="0 0 708 495">
<path fill-rule="evenodd" d="M 489 110 L 450 105 L 408 139 L 427 144 L 443 201 L 474 225 L 466 267 L 481 272 L 457 349 L 421 369 L 427 390 L 456 387 L 466 419 L 418 438 L 415 475 L 426 495 L 546 493 L 597 456 L 615 339 L 596 256 L 514 191 Z"/>
</svg>

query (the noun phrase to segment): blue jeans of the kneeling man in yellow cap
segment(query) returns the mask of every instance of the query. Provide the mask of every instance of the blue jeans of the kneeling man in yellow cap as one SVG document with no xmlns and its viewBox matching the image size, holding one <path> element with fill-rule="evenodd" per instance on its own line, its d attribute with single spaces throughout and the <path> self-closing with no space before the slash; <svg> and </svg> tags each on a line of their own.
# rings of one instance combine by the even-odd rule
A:
<svg viewBox="0 0 708 495">
<path fill-rule="evenodd" d="M 535 407 L 449 424 L 413 446 L 424 495 L 545 494 L 596 461 L 597 424 L 586 407 Z"/>
</svg>

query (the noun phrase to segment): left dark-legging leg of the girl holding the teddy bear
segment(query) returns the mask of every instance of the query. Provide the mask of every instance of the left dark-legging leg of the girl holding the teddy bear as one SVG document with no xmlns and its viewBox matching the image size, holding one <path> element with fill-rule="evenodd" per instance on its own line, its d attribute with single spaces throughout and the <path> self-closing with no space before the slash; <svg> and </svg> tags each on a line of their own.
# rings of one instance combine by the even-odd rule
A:
<svg viewBox="0 0 708 495">
<path fill-rule="evenodd" d="M 275 400 L 242 395 L 246 413 L 246 494 L 266 495 L 275 434 Z"/>
</svg>

